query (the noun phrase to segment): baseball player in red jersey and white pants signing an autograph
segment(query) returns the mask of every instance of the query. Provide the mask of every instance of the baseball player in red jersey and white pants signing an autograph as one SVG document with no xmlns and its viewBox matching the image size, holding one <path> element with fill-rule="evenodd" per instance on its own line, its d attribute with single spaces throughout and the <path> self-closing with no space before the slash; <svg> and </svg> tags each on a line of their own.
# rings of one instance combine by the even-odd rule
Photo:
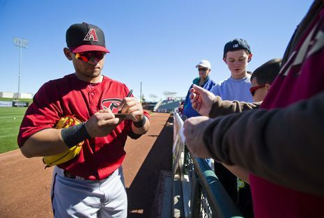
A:
<svg viewBox="0 0 324 218">
<path fill-rule="evenodd" d="M 54 166 L 54 217 L 127 217 L 127 196 L 121 164 L 127 137 L 148 131 L 149 115 L 128 97 L 125 84 L 101 74 L 105 35 L 98 26 L 72 24 L 66 31 L 66 58 L 75 72 L 45 83 L 27 109 L 18 145 L 26 157 L 62 153 L 84 141 L 80 153 Z M 132 114 L 122 120 L 114 114 Z M 82 123 L 63 129 L 54 126 L 65 116 Z"/>
</svg>

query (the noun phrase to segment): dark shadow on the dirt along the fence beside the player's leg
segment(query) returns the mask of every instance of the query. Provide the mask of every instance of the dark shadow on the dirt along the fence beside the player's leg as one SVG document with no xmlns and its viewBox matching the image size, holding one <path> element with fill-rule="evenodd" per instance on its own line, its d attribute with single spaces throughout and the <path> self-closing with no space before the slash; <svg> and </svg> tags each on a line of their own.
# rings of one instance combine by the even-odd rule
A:
<svg viewBox="0 0 324 218">
<path fill-rule="evenodd" d="M 146 156 L 128 193 L 128 217 L 151 217 L 157 183 L 160 171 L 171 171 L 172 168 L 172 141 L 173 116 L 170 116 L 164 125 L 153 147 Z"/>
</svg>

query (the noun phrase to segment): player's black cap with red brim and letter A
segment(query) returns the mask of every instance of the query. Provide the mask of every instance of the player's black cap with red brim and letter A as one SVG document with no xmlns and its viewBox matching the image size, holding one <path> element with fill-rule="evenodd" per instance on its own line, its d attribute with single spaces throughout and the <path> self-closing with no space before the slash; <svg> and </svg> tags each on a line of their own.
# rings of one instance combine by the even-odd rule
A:
<svg viewBox="0 0 324 218">
<path fill-rule="evenodd" d="M 100 51 L 108 52 L 105 34 L 93 24 L 72 24 L 66 31 L 66 45 L 73 53 Z"/>
</svg>

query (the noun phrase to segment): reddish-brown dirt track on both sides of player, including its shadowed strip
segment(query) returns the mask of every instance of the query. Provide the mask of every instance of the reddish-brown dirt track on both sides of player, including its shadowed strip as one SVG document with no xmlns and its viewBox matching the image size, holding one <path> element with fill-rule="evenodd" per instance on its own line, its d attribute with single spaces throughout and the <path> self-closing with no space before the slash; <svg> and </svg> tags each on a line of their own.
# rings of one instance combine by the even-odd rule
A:
<svg viewBox="0 0 324 218">
<path fill-rule="evenodd" d="M 171 170 L 170 114 L 152 114 L 151 128 L 143 137 L 128 139 L 123 162 L 128 190 L 128 217 L 151 217 L 161 170 Z M 3 218 L 53 217 L 49 197 L 52 168 L 41 157 L 27 159 L 20 150 L 0 155 L 0 216 Z"/>
</svg>

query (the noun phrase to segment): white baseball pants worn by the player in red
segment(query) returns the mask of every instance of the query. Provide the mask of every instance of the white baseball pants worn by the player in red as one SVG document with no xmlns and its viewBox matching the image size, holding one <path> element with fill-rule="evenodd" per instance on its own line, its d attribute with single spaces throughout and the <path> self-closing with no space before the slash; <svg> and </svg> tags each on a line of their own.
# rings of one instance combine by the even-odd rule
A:
<svg viewBox="0 0 324 218">
<path fill-rule="evenodd" d="M 54 217 L 127 217 L 127 194 L 120 167 L 105 180 L 66 178 L 54 167 L 52 180 Z"/>
</svg>

